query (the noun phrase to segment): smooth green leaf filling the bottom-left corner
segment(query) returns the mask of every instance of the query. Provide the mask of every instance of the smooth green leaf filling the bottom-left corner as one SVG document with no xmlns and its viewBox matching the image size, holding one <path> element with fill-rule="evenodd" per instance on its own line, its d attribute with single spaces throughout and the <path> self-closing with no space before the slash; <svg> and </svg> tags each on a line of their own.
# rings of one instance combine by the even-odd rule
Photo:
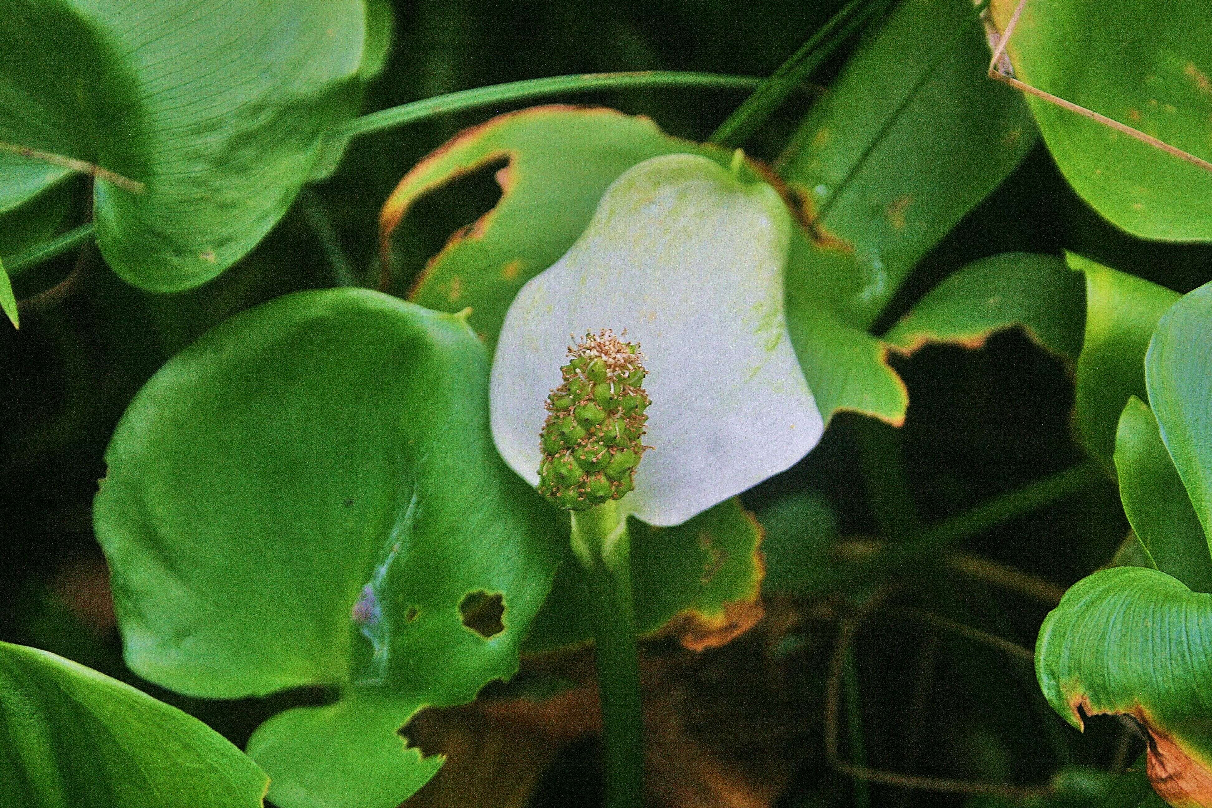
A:
<svg viewBox="0 0 1212 808">
<path fill-rule="evenodd" d="M 0 804 L 256 808 L 267 781 L 181 710 L 62 657 L 0 642 Z"/>
</svg>

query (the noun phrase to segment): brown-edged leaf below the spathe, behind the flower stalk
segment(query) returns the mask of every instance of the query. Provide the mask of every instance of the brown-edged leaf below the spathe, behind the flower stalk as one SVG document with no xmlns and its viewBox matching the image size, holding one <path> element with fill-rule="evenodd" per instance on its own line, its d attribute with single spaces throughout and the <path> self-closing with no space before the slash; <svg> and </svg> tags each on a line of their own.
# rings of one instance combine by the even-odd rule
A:
<svg viewBox="0 0 1212 808">
<path fill-rule="evenodd" d="M 629 529 L 638 631 L 674 634 L 690 648 L 707 648 L 724 644 L 761 618 L 762 531 L 739 502 L 724 502 L 678 527 L 631 520 Z M 567 549 L 526 651 L 594 636 L 591 584 Z"/>
</svg>

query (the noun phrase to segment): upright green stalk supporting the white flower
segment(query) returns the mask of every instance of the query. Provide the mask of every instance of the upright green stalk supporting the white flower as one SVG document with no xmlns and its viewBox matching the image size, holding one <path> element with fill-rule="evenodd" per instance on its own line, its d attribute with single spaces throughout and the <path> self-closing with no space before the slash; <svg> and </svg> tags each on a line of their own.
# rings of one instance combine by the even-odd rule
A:
<svg viewBox="0 0 1212 808">
<path fill-rule="evenodd" d="M 631 598 L 631 539 L 616 502 L 572 512 L 572 544 L 594 578 L 606 808 L 644 806 L 644 712 Z M 588 563 L 587 563 L 588 562 Z"/>
</svg>

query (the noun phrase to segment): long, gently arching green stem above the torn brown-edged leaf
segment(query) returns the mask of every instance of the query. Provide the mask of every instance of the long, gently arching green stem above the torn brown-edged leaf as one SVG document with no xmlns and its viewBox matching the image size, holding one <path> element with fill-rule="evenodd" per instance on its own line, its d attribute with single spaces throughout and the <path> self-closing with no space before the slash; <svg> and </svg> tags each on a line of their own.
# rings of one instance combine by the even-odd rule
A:
<svg viewBox="0 0 1212 808">
<path fill-rule="evenodd" d="M 548 76 L 510 81 L 452 92 L 435 98 L 424 98 L 390 109 L 355 118 L 330 128 L 328 137 L 358 137 L 411 124 L 434 115 L 445 115 L 476 107 L 514 103 L 542 96 L 555 96 L 587 90 L 634 90 L 639 87 L 698 87 L 703 90 L 751 90 L 761 84 L 754 76 L 737 76 L 721 73 L 686 73 L 680 70 L 644 70 L 638 73 L 582 73 L 567 76 Z"/>
</svg>

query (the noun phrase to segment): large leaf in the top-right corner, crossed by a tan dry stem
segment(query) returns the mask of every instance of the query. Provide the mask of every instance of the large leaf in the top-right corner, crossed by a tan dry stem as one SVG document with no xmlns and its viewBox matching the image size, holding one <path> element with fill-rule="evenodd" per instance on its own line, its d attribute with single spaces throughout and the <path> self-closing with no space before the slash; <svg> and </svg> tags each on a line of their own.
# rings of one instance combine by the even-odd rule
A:
<svg viewBox="0 0 1212 808">
<path fill-rule="evenodd" d="M 1018 0 L 994 0 L 1005 30 Z M 1190 0 L 1031 0 L 1007 53 L 1017 78 L 1212 160 L 1212 28 Z M 1034 96 L 1027 97 L 1065 179 L 1128 233 L 1212 239 L 1212 172 Z"/>
</svg>

